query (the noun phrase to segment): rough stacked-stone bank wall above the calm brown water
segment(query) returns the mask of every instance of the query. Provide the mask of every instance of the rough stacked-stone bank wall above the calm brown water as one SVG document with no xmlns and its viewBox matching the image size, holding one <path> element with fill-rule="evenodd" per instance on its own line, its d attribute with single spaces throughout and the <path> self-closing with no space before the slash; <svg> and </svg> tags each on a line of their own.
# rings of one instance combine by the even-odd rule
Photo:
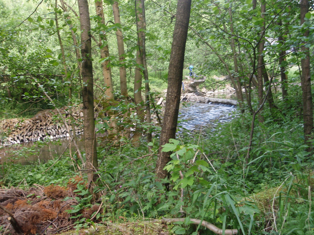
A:
<svg viewBox="0 0 314 235">
<path fill-rule="evenodd" d="M 19 144 L 22 142 L 39 141 L 44 138 L 63 138 L 69 136 L 72 131 L 70 114 L 64 109 L 60 109 L 62 116 L 66 118 L 67 126 L 63 124 L 57 110 L 43 110 L 29 119 L 7 119 L 0 121 L 0 146 Z M 82 125 L 79 119 L 83 118 L 83 113 L 73 111 L 75 121 L 75 133 L 82 133 Z"/>
</svg>

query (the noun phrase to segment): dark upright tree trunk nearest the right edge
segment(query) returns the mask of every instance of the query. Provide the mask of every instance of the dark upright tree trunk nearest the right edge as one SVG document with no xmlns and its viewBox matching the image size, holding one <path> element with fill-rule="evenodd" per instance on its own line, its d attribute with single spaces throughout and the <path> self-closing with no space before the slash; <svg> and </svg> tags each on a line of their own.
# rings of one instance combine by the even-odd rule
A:
<svg viewBox="0 0 314 235">
<path fill-rule="evenodd" d="M 300 17 L 301 25 L 305 22 L 305 15 L 309 11 L 308 0 L 300 1 Z M 309 36 L 309 30 L 306 29 L 303 32 L 304 38 Z M 307 142 L 312 139 L 313 132 L 313 103 L 312 103 L 312 92 L 311 92 L 311 73 L 310 73 L 310 53 L 306 42 L 301 47 L 301 53 L 303 55 L 301 59 L 301 86 L 302 86 L 302 100 L 303 100 L 303 123 L 304 123 L 304 138 Z"/>
</svg>

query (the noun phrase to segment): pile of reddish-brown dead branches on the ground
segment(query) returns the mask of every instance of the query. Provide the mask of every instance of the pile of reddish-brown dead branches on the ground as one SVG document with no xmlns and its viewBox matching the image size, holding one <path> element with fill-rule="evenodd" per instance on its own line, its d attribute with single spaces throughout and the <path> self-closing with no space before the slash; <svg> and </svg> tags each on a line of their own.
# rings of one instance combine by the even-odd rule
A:
<svg viewBox="0 0 314 235">
<path fill-rule="evenodd" d="M 17 229 L 13 228 L 13 221 L 20 227 L 25 235 L 31 234 L 55 234 L 66 231 L 73 227 L 77 220 L 70 218 L 66 210 L 73 209 L 77 205 L 77 197 L 73 191 L 81 181 L 80 178 L 70 180 L 68 188 L 59 185 L 42 187 L 35 185 L 28 190 L 19 188 L 0 189 L 0 227 L 2 235 L 18 235 Z M 68 200 L 64 200 L 70 197 Z M 85 208 L 79 213 L 81 217 L 91 218 L 92 214 L 99 209 L 99 205 Z M 10 223 L 11 220 L 11 223 Z"/>
</svg>

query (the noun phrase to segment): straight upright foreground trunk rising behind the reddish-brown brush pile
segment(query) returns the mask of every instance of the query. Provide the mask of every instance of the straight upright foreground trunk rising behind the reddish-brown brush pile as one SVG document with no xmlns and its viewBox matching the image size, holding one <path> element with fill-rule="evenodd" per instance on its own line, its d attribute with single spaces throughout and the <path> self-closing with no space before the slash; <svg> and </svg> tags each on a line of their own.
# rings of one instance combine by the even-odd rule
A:
<svg viewBox="0 0 314 235">
<path fill-rule="evenodd" d="M 90 19 L 87 0 L 78 0 L 78 9 L 81 24 L 81 55 L 82 55 L 82 79 L 83 83 L 83 116 L 84 116 L 84 148 L 86 154 L 86 169 L 88 183 L 92 189 L 97 178 L 95 172 L 98 169 L 95 120 L 94 120 L 94 87 L 93 64 L 91 58 L 91 34 Z"/>
</svg>

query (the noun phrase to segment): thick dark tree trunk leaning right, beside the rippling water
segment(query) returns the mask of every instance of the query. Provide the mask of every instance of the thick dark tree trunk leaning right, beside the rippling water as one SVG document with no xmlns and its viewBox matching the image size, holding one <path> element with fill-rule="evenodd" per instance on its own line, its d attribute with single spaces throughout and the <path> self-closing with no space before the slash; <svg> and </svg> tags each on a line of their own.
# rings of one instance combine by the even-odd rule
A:
<svg viewBox="0 0 314 235">
<path fill-rule="evenodd" d="M 176 135 L 183 76 L 184 52 L 187 41 L 190 11 L 191 0 L 178 0 L 176 24 L 173 32 L 168 70 L 168 89 L 165 114 L 160 134 L 160 146 L 155 169 L 157 178 L 159 179 L 164 179 L 168 176 L 168 172 L 167 170 L 164 170 L 164 167 L 171 160 L 171 152 L 162 152 L 162 146 L 169 143 L 169 139 L 175 138 Z"/>
</svg>

